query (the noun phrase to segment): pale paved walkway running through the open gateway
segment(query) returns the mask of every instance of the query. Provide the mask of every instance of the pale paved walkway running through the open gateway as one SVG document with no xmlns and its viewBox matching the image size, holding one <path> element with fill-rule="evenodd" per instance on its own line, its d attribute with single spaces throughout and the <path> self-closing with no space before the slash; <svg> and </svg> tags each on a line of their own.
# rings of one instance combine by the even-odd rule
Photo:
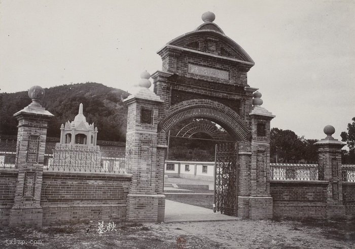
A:
<svg viewBox="0 0 355 249">
<path fill-rule="evenodd" d="M 214 213 L 210 209 L 189 205 L 172 200 L 165 200 L 164 222 L 192 222 L 192 221 L 227 221 L 237 220 L 237 217 Z"/>
</svg>

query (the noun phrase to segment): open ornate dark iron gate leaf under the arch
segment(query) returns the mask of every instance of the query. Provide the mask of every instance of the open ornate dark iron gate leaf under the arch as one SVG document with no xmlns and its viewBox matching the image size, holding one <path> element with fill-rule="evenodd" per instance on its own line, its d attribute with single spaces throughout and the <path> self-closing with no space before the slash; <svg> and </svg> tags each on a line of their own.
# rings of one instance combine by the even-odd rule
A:
<svg viewBox="0 0 355 249">
<path fill-rule="evenodd" d="M 214 212 L 237 216 L 238 144 L 216 144 Z"/>
</svg>

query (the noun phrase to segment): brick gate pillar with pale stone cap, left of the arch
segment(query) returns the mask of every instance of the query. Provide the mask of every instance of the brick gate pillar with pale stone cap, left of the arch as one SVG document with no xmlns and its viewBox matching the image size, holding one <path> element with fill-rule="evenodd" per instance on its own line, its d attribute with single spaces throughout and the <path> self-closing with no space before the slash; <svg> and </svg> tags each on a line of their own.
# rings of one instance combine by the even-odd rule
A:
<svg viewBox="0 0 355 249">
<path fill-rule="evenodd" d="M 161 206 L 164 210 L 165 195 L 157 188 L 162 175 L 158 167 L 161 148 L 157 148 L 157 128 L 158 111 L 163 101 L 148 89 L 150 74 L 143 72 L 140 76 L 134 93 L 124 100 L 128 106 L 126 162 L 132 174 L 127 195 L 127 220 L 160 222 L 164 220 Z"/>
</svg>

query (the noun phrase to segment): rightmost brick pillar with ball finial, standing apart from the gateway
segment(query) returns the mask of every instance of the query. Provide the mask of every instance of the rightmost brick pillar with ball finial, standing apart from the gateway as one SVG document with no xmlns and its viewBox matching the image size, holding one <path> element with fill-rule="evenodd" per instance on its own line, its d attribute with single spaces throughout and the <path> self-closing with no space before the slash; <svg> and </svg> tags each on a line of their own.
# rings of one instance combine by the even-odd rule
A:
<svg viewBox="0 0 355 249">
<path fill-rule="evenodd" d="M 318 180 L 328 181 L 327 187 L 327 217 L 344 217 L 342 177 L 341 177 L 341 148 L 345 143 L 334 139 L 335 129 L 326 126 L 325 139 L 314 143 L 318 147 Z"/>
</svg>

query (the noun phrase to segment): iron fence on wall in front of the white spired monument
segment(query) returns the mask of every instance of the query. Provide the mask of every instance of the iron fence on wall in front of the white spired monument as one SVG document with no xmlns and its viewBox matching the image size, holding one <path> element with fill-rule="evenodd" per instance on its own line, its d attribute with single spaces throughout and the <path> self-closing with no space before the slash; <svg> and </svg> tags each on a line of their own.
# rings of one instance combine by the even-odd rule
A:
<svg viewBox="0 0 355 249">
<path fill-rule="evenodd" d="M 100 150 L 85 145 L 60 146 L 46 154 L 44 169 L 48 171 L 129 173 L 125 152 Z"/>
</svg>

